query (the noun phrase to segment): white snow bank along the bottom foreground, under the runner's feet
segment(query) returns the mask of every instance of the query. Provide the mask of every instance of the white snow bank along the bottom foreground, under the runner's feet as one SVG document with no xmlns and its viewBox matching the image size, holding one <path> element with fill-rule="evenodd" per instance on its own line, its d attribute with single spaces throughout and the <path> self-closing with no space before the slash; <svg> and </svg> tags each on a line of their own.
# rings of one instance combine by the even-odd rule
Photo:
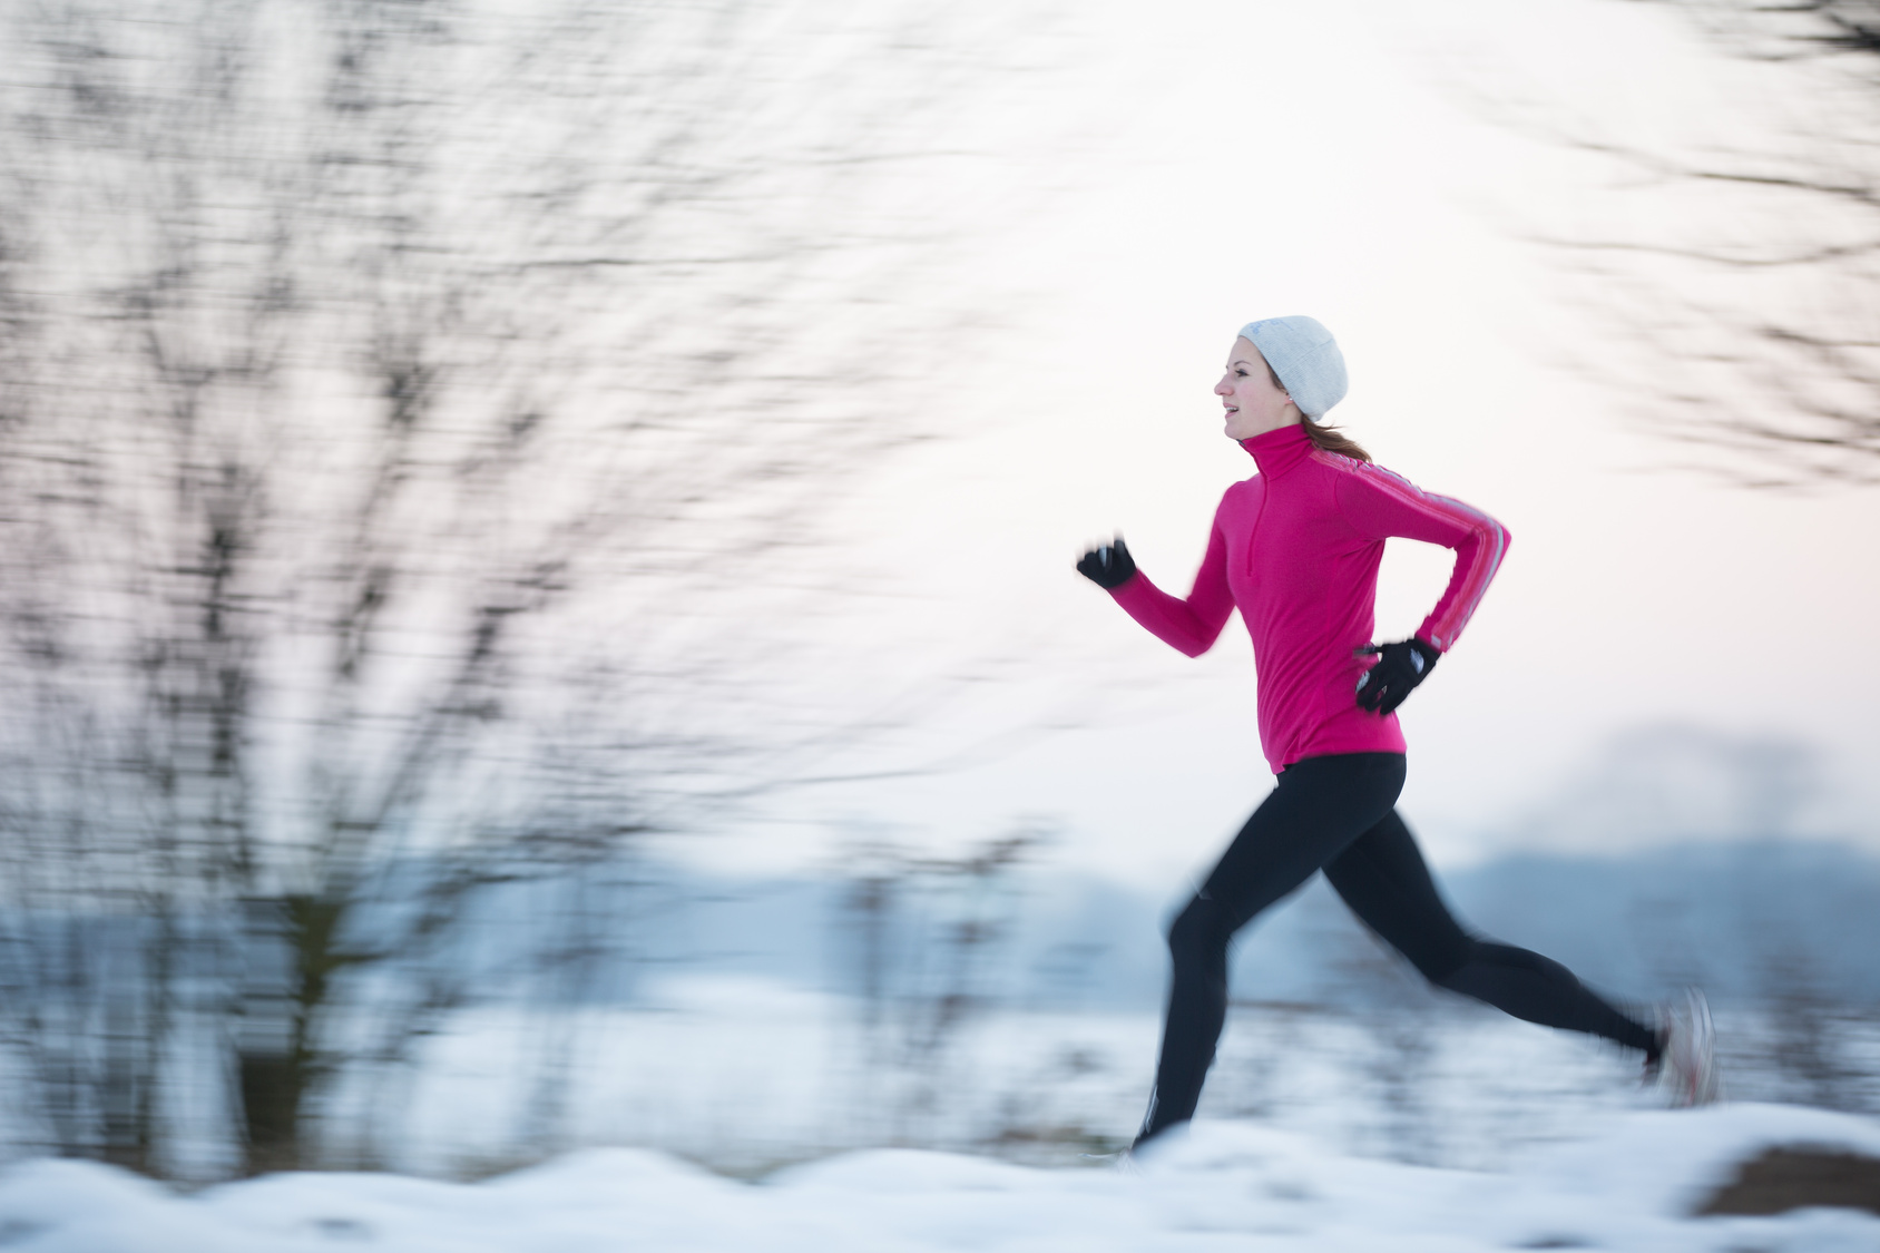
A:
<svg viewBox="0 0 1880 1253">
<path fill-rule="evenodd" d="M 79 1161 L 0 1174 L 0 1245 L 23 1253 L 923 1253 L 987 1249 L 1632 1249 L 1872 1253 L 1880 1217 L 1809 1208 L 1694 1217 L 1765 1146 L 1880 1155 L 1880 1125 L 1728 1104 L 1617 1114 L 1504 1172 L 1329 1151 L 1205 1121 L 1141 1163 L 1030 1168 L 872 1150 L 746 1183 L 649 1150 L 587 1150 L 483 1183 L 286 1174 L 179 1195 Z"/>
</svg>

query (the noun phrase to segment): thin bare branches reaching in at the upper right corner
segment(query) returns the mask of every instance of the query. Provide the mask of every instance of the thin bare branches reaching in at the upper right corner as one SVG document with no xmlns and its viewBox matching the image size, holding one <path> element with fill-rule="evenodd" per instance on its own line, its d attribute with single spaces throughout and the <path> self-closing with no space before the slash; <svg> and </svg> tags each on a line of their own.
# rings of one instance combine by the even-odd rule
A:
<svg viewBox="0 0 1880 1253">
<path fill-rule="evenodd" d="M 1634 2 L 1782 66 L 1784 94 L 1762 130 L 1683 149 L 1559 113 L 1534 124 L 1617 162 L 1609 199 L 1653 205 L 1549 239 L 1613 331 L 1583 363 L 1636 397 L 1643 427 L 1747 485 L 1880 482 L 1880 4 Z"/>
</svg>

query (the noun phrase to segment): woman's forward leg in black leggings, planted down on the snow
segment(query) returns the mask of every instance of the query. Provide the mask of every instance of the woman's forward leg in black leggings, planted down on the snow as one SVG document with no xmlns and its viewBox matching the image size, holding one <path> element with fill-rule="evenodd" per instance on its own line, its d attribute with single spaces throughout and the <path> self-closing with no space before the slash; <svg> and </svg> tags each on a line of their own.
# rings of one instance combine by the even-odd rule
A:
<svg viewBox="0 0 1880 1253">
<path fill-rule="evenodd" d="M 1401 753 L 1310 756 L 1280 773 L 1275 792 L 1169 928 L 1175 975 L 1137 1144 L 1194 1118 L 1228 1018 L 1233 933 L 1391 813 L 1402 785 Z"/>
</svg>

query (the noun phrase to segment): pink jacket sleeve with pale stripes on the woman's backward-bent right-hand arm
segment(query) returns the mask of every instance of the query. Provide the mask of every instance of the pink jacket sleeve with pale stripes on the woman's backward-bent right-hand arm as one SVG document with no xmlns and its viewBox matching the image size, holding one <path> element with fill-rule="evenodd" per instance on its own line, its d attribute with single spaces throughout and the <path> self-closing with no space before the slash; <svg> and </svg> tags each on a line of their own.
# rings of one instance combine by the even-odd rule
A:
<svg viewBox="0 0 1880 1253">
<path fill-rule="evenodd" d="M 1461 500 L 1421 491 L 1374 465 L 1359 465 L 1339 480 L 1339 508 L 1372 540 L 1402 536 L 1455 549 L 1455 570 L 1442 600 L 1418 626 L 1418 638 L 1448 653 L 1476 613 L 1508 551 L 1508 527 Z"/>
</svg>

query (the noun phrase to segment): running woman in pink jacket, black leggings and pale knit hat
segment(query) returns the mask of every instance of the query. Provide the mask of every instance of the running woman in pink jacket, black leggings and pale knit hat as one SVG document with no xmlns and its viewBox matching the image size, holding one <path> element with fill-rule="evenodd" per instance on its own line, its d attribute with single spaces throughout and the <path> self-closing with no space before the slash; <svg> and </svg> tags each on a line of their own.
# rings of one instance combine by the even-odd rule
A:
<svg viewBox="0 0 1880 1253">
<path fill-rule="evenodd" d="M 1136 568 L 1120 538 L 1077 570 L 1156 638 L 1199 657 L 1241 611 L 1260 672 L 1260 743 L 1278 786 L 1246 820 L 1169 928 L 1173 980 L 1156 1086 L 1136 1146 L 1194 1118 L 1228 1012 L 1228 943 L 1314 871 L 1357 918 L 1438 988 L 1547 1027 L 1636 1048 L 1673 1104 L 1715 1099 L 1709 1014 L 1690 991 L 1653 1025 L 1615 1008 L 1540 954 L 1463 929 L 1397 817 L 1404 738 L 1397 706 L 1431 675 L 1481 604 L 1508 529 L 1419 491 L 1320 425 L 1344 399 L 1344 356 L 1312 318 L 1241 327 L 1214 384 L 1226 435 L 1258 474 L 1214 512 L 1186 598 Z M 1372 643 L 1378 561 L 1391 536 L 1455 549 L 1455 572 L 1408 640 Z"/>
</svg>

